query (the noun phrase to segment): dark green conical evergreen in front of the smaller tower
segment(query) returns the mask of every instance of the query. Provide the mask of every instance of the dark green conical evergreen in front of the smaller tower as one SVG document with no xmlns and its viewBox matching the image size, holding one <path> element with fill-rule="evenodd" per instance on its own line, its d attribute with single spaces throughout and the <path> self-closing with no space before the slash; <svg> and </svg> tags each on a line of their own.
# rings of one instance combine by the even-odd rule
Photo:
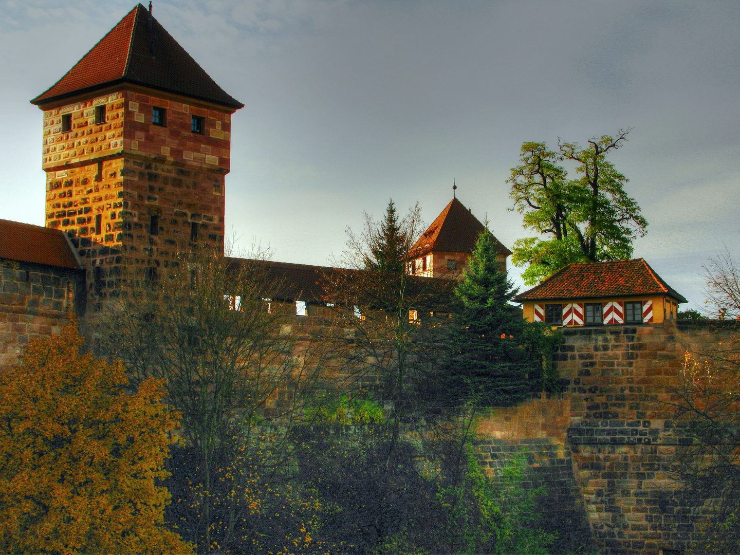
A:
<svg viewBox="0 0 740 555">
<path fill-rule="evenodd" d="M 440 403 L 506 406 L 541 391 L 553 338 L 510 304 L 517 289 L 497 254 L 492 235 L 482 233 L 455 289 L 450 354 L 436 378 Z"/>
</svg>

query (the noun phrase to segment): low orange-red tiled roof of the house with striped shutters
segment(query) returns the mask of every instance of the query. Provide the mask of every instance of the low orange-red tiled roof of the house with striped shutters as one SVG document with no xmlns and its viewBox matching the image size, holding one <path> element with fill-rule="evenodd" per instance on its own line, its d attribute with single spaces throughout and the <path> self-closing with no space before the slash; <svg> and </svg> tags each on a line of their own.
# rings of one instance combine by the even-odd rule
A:
<svg viewBox="0 0 740 555">
<path fill-rule="evenodd" d="M 514 300 L 555 300 L 595 297 L 628 297 L 665 293 L 679 303 L 688 301 L 669 286 L 642 258 L 568 264 L 538 286 Z"/>
</svg>

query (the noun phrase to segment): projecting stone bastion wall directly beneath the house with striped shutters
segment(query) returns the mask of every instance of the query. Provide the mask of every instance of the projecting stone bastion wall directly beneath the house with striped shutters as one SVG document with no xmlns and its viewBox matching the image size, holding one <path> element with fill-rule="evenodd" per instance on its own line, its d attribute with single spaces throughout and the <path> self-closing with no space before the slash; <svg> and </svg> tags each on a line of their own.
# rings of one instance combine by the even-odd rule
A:
<svg viewBox="0 0 740 555">
<path fill-rule="evenodd" d="M 568 443 L 596 545 L 604 554 L 684 550 L 694 521 L 671 498 L 668 472 L 682 437 L 662 403 L 675 398 L 685 350 L 733 332 L 670 320 L 562 331 L 556 370 L 571 397 Z"/>
</svg>

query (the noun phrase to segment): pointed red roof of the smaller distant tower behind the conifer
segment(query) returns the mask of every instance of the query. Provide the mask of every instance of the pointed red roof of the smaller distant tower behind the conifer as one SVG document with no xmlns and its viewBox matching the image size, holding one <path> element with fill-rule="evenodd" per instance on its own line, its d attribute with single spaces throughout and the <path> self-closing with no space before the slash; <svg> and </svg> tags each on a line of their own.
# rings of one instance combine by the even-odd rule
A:
<svg viewBox="0 0 740 555">
<path fill-rule="evenodd" d="M 453 198 L 417 240 L 414 251 L 419 256 L 432 251 L 473 252 L 478 236 L 485 231 L 485 226 L 470 210 L 462 206 L 457 198 Z M 511 255 L 511 251 L 499 243 L 497 238 L 494 237 L 494 240 L 502 255 Z"/>
</svg>

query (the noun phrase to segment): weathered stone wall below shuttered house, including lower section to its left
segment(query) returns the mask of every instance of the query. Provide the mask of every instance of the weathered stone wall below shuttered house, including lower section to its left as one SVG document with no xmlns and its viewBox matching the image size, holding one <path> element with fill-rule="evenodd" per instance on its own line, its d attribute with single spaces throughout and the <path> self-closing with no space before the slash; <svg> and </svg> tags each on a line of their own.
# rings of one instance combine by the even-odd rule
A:
<svg viewBox="0 0 740 555">
<path fill-rule="evenodd" d="M 731 347 L 738 329 L 672 320 L 562 329 L 554 365 L 565 392 L 485 414 L 479 464 L 495 474 L 525 455 L 528 484 L 545 488 L 542 525 L 559 531 L 560 551 L 684 552 L 700 533 L 696 508 L 673 497 L 669 467 L 684 438 L 665 403 L 677 399 L 686 351 Z"/>
</svg>

